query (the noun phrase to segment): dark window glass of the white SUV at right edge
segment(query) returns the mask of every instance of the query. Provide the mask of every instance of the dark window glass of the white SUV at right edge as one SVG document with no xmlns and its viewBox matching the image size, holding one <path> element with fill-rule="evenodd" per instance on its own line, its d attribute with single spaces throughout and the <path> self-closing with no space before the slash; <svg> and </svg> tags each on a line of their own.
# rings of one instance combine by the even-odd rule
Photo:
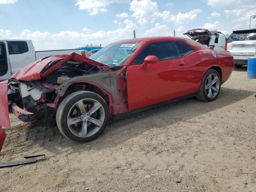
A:
<svg viewBox="0 0 256 192">
<path fill-rule="evenodd" d="M 236 31 L 231 34 L 228 41 L 256 40 L 256 30 Z"/>
</svg>

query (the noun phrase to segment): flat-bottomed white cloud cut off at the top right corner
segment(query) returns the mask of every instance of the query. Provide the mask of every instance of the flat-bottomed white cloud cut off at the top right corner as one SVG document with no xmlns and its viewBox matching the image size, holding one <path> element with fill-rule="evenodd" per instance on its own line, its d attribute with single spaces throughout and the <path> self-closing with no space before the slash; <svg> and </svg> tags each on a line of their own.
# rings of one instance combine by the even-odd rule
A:
<svg viewBox="0 0 256 192">
<path fill-rule="evenodd" d="M 216 9 L 256 8 L 255 0 L 207 0 L 208 5 Z"/>
</svg>

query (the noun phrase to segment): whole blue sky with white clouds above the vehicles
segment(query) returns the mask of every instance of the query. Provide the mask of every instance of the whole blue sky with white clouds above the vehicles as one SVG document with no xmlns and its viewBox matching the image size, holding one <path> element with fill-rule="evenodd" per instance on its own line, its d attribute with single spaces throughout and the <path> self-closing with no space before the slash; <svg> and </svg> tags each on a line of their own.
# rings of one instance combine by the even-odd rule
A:
<svg viewBox="0 0 256 192">
<path fill-rule="evenodd" d="M 0 0 L 0 39 L 30 39 L 36 50 L 106 44 L 141 36 L 183 36 L 203 27 L 249 27 L 255 0 Z"/>
</svg>

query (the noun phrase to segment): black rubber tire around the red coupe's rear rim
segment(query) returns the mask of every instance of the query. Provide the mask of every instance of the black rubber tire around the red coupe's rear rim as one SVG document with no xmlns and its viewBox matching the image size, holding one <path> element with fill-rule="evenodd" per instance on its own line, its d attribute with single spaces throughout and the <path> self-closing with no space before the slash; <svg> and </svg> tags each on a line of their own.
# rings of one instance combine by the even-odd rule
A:
<svg viewBox="0 0 256 192">
<path fill-rule="evenodd" d="M 215 94 L 215 96 L 213 98 L 210 98 L 210 97 L 207 96 L 206 89 L 205 89 L 206 81 L 207 81 L 208 76 L 210 76 L 210 74 L 216 74 L 218 76 L 218 79 L 219 79 L 219 89 L 218 89 L 218 92 L 216 92 L 216 94 Z M 221 87 L 220 74 L 216 70 L 214 70 L 214 69 L 208 69 L 205 72 L 205 74 L 204 74 L 204 76 L 202 78 L 202 82 L 200 84 L 199 92 L 196 95 L 196 98 L 198 100 L 201 100 L 201 101 L 213 101 L 213 100 L 215 100 L 218 97 L 218 95 L 220 93 L 220 87 Z"/>
</svg>

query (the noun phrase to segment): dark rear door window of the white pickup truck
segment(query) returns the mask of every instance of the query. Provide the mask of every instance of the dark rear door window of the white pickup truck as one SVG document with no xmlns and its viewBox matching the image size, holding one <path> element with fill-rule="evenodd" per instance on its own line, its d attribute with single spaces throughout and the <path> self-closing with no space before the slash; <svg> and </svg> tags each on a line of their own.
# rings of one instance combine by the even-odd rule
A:
<svg viewBox="0 0 256 192">
<path fill-rule="evenodd" d="M 8 41 L 7 44 L 10 55 L 28 52 L 28 44 L 26 41 Z"/>
</svg>

